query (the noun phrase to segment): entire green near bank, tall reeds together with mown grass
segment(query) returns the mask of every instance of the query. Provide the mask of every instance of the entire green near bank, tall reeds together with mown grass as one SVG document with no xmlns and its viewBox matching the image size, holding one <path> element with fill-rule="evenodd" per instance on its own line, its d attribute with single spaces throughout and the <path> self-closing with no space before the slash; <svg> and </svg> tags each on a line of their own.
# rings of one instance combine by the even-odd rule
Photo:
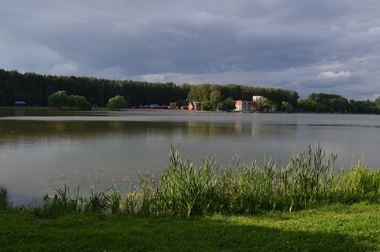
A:
<svg viewBox="0 0 380 252">
<path fill-rule="evenodd" d="M 1 251 L 380 251 L 380 171 L 342 167 L 312 143 L 285 167 L 196 168 L 170 146 L 156 176 L 128 192 L 57 188 L 13 206 L 0 185 Z"/>
</svg>

